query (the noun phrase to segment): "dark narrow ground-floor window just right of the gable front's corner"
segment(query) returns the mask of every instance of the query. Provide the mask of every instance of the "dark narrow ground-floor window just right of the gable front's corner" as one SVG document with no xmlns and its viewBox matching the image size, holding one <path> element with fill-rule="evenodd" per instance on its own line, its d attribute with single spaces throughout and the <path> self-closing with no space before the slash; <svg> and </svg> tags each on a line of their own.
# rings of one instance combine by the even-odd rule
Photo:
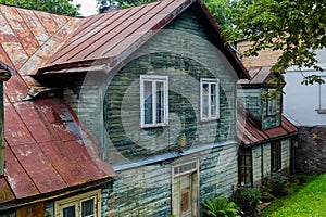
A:
<svg viewBox="0 0 326 217">
<path fill-rule="evenodd" d="M 240 186 L 252 186 L 251 149 L 239 150 L 239 183 Z"/>
</svg>

